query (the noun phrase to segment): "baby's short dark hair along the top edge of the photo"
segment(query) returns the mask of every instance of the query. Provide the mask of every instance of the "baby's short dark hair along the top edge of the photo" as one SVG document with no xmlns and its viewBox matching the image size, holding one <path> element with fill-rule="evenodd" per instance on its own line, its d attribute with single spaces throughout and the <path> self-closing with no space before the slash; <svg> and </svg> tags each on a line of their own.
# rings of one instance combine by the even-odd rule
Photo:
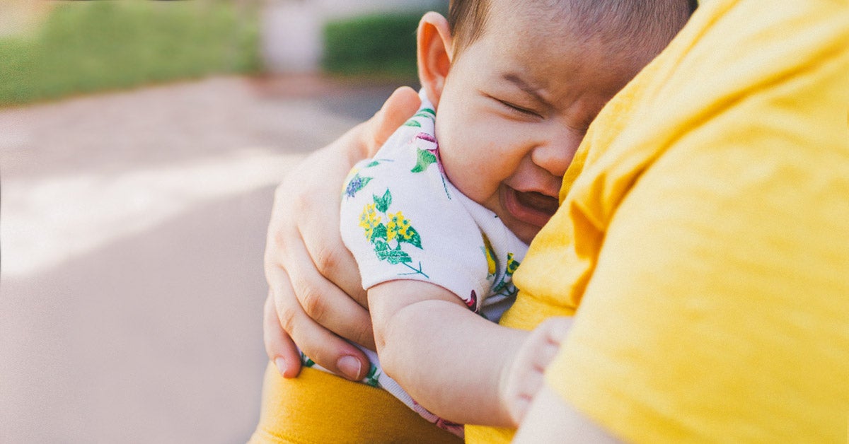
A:
<svg viewBox="0 0 849 444">
<path fill-rule="evenodd" d="M 451 0 L 448 25 L 453 52 L 475 42 L 486 30 L 493 0 Z M 589 41 L 601 38 L 614 49 L 649 48 L 659 53 L 683 27 L 697 0 L 534 0 L 551 16 L 570 26 L 573 35 Z M 524 3 L 524 2 L 523 2 Z M 536 6 L 536 5 L 535 5 Z"/>
</svg>

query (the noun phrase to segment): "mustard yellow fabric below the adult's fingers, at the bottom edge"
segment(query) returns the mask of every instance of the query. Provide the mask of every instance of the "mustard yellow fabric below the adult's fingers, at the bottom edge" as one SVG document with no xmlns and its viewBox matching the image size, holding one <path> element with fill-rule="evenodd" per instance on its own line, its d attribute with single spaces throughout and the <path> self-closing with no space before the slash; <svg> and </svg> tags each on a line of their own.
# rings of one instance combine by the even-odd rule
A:
<svg viewBox="0 0 849 444">
<path fill-rule="evenodd" d="M 249 444 L 462 442 L 388 392 L 313 368 L 284 379 L 273 364 L 262 385 L 260 422 Z"/>
</svg>

